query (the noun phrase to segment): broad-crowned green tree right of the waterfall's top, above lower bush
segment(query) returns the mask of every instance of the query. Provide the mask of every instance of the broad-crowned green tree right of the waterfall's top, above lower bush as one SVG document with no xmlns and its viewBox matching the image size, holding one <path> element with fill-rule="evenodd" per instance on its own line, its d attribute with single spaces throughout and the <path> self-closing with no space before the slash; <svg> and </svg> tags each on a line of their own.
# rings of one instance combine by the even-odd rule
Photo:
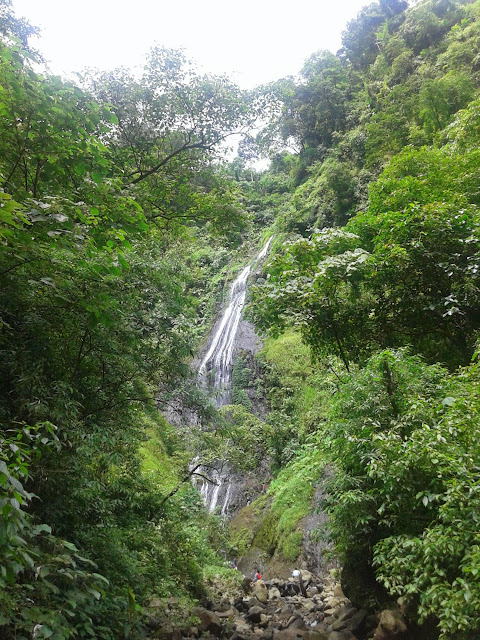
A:
<svg viewBox="0 0 480 640">
<path fill-rule="evenodd" d="M 400 154 L 345 230 L 284 244 L 252 294 L 259 326 L 296 326 L 346 367 L 402 344 L 468 362 L 479 328 L 477 170 L 476 151 Z"/>
</svg>

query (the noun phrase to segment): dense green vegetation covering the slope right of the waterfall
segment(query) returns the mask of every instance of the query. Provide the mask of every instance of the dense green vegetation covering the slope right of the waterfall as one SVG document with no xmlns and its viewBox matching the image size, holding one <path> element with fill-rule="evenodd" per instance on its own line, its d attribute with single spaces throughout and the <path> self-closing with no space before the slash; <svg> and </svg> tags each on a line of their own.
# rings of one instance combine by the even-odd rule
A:
<svg viewBox="0 0 480 640">
<path fill-rule="evenodd" d="M 270 340 L 297 331 L 323 382 L 307 430 L 303 402 L 287 412 L 275 459 L 313 446 L 333 465 L 324 506 L 350 597 L 404 596 L 459 639 L 480 630 L 480 5 L 405 9 L 369 5 L 336 56 L 271 88 L 283 112 L 259 143 L 299 152 L 258 181 L 277 251 L 251 316 Z"/>
</svg>

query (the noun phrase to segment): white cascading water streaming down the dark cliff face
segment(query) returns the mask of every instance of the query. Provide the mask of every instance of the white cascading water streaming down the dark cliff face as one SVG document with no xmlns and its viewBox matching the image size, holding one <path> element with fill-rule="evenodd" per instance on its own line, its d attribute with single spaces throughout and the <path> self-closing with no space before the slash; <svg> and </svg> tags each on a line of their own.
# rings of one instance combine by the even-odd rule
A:
<svg viewBox="0 0 480 640">
<path fill-rule="evenodd" d="M 203 386 L 211 389 L 217 408 L 230 400 L 235 338 L 245 305 L 247 280 L 252 267 L 267 255 L 271 241 L 270 237 L 253 263 L 243 269 L 230 287 L 227 308 L 198 369 L 199 380 Z M 226 515 L 232 496 L 232 475 L 227 465 L 220 464 L 220 470 L 202 470 L 203 475 L 208 476 L 210 482 L 197 477 L 196 484 L 208 511 L 212 512 L 218 506 L 221 515 Z"/>
</svg>

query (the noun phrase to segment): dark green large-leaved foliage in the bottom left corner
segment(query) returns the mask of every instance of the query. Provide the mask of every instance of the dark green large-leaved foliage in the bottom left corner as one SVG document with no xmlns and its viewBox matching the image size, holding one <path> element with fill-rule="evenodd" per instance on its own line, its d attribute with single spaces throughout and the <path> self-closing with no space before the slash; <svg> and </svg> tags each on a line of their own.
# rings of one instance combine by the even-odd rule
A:
<svg viewBox="0 0 480 640">
<path fill-rule="evenodd" d="M 42 451 L 58 451 L 55 427 L 19 426 L 0 436 L 0 626 L 39 638 L 107 638 L 106 627 L 94 631 L 93 619 L 108 581 L 28 513 L 37 497 L 25 489 L 29 468 Z"/>
</svg>

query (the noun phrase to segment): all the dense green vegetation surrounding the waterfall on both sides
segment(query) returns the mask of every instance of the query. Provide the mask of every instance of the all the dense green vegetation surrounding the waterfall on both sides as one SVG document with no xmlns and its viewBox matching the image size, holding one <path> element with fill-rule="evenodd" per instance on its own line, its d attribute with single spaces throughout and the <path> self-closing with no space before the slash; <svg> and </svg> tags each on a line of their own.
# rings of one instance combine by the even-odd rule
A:
<svg viewBox="0 0 480 640">
<path fill-rule="evenodd" d="M 478 634 L 480 2 L 374 2 L 255 92 L 159 48 L 141 77 L 43 76 L 0 10 L 2 637 L 141 637 L 229 544 L 293 562 L 326 464 L 349 597 Z M 218 413 L 189 362 L 262 233 L 268 337 Z M 173 401 L 208 428 L 173 428 Z M 198 454 L 270 460 L 230 542 Z"/>
</svg>

